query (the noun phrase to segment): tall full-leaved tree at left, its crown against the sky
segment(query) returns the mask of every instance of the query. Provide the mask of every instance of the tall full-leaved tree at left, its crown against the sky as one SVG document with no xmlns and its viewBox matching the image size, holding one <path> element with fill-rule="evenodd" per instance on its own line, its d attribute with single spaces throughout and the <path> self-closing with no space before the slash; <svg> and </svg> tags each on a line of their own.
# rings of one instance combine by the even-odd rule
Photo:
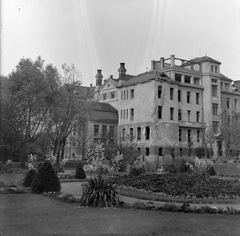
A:
<svg viewBox="0 0 240 236">
<path fill-rule="evenodd" d="M 52 65 L 44 67 L 38 57 L 20 60 L 9 75 L 9 92 L 12 105 L 18 111 L 17 119 L 22 121 L 25 150 L 45 132 L 48 112 L 59 86 L 59 73 Z M 27 153 L 23 154 L 22 164 Z"/>
</svg>

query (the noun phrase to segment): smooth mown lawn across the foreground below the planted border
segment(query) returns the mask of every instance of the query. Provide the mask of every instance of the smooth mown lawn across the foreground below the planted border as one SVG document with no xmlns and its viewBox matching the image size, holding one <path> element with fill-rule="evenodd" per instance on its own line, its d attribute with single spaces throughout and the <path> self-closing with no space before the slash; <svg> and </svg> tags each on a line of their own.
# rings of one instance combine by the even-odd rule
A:
<svg viewBox="0 0 240 236">
<path fill-rule="evenodd" d="M 0 194 L 0 235 L 240 235 L 235 215 L 78 208 L 42 195 Z"/>
</svg>

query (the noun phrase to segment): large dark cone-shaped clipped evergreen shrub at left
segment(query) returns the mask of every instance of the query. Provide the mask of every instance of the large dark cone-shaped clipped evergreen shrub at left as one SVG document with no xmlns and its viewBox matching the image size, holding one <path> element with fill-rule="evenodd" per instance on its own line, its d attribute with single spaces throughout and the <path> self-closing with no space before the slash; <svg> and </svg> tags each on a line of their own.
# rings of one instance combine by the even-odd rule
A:
<svg viewBox="0 0 240 236">
<path fill-rule="evenodd" d="M 40 170 L 36 173 L 31 190 L 33 193 L 59 192 L 61 190 L 60 181 L 50 162 L 44 162 Z"/>
</svg>

